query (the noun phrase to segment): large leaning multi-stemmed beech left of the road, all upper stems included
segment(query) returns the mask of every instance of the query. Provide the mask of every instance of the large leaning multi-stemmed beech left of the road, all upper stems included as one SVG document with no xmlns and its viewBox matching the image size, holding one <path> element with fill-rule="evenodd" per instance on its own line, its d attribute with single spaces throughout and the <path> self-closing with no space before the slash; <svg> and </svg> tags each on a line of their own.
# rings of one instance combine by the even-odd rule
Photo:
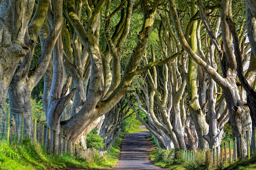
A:
<svg viewBox="0 0 256 170">
<path fill-rule="evenodd" d="M 134 71 L 138 67 L 140 59 L 144 54 L 150 32 L 154 24 L 154 18 L 158 2 L 159 1 L 156 1 L 153 6 L 148 5 L 148 3 L 144 1 L 140 2 L 140 6 L 144 14 L 144 24 L 142 26 L 142 30 L 138 33 L 139 40 L 137 43 L 137 47 L 133 51 L 132 57 L 126 67 L 126 70 L 124 71 L 122 79 L 120 75 L 120 53 L 122 51 L 123 41 L 127 37 L 127 34 L 129 32 L 130 17 L 134 2 L 127 1 L 123 27 L 116 27 L 118 34 L 115 35 L 116 37 L 112 37 L 113 39 L 110 38 L 109 35 L 108 23 L 110 23 L 111 18 L 113 18 L 114 14 L 116 14 L 116 12 L 121 9 L 124 3 L 121 2 L 120 6 L 118 6 L 117 9 L 112 12 L 112 15 L 109 15 L 109 5 L 111 4 L 111 2 L 107 2 L 105 17 L 105 37 L 108 42 L 108 53 L 112 55 L 113 65 L 116 66 L 113 67 L 112 70 L 112 77 L 115 78 L 107 79 L 106 76 L 111 75 L 111 72 L 110 69 L 107 69 L 106 71 L 104 70 L 107 66 L 103 69 L 103 61 L 105 55 L 100 51 L 99 47 L 99 30 L 101 25 L 100 11 L 105 1 L 99 1 L 97 4 L 96 2 L 91 2 L 91 6 L 86 5 L 86 10 L 88 12 L 87 19 L 84 22 L 85 26 L 83 26 L 82 22 L 79 19 L 80 10 L 76 11 L 75 4 L 71 1 L 66 1 L 65 15 L 68 18 L 68 26 L 74 28 L 79 40 L 81 41 L 82 46 L 84 47 L 84 50 L 88 52 L 91 62 L 91 74 L 86 99 L 84 100 L 84 102 L 82 102 L 81 109 L 78 110 L 78 112 L 72 118 L 70 118 L 66 122 L 63 122 L 64 124 L 61 128 L 61 131 L 69 140 L 76 140 L 92 121 L 108 112 L 108 110 L 113 108 L 116 103 L 118 103 L 118 101 L 123 97 L 125 93 L 130 92 L 129 86 L 132 81 L 132 77 L 136 75 Z M 85 2 L 85 4 L 87 3 Z M 94 11 L 92 11 L 92 5 L 94 5 Z M 78 6 L 79 5 L 77 5 L 77 8 Z M 67 57 L 65 56 L 65 58 L 66 60 L 68 60 L 68 55 Z M 109 65 L 109 60 L 106 61 Z M 73 64 L 72 61 L 69 63 Z M 104 71 L 102 72 L 102 70 Z M 102 74 L 105 89 L 102 89 L 101 87 Z M 109 88 L 107 88 L 107 83 L 109 82 L 111 83 Z M 76 88 L 78 89 L 79 87 L 77 86 Z M 106 94 L 107 96 L 102 96 L 103 94 Z"/>
</svg>

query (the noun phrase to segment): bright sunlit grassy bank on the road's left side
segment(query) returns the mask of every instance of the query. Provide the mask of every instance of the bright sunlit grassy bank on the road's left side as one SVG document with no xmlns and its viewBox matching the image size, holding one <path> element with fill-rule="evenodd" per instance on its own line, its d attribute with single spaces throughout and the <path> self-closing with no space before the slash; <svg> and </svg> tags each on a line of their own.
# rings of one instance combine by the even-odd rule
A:
<svg viewBox="0 0 256 170">
<path fill-rule="evenodd" d="M 43 145 L 31 143 L 30 139 L 24 139 L 20 145 L 8 145 L 0 141 L 0 170 L 41 170 L 67 166 L 109 169 L 116 166 L 122 138 L 127 133 L 120 132 L 109 153 L 102 158 L 95 153 L 89 159 L 71 157 L 69 153 L 49 154 Z"/>
</svg>

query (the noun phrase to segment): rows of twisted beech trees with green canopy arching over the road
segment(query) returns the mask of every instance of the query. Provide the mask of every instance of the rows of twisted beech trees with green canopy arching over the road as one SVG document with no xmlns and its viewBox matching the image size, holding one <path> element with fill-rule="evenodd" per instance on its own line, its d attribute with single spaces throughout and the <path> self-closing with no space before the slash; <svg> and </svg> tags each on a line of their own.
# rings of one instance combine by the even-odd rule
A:
<svg viewBox="0 0 256 170">
<path fill-rule="evenodd" d="M 256 125 L 255 0 L 0 3 L 0 104 L 31 114 L 36 98 L 83 148 L 132 114 L 165 149 L 194 152 Z"/>
</svg>

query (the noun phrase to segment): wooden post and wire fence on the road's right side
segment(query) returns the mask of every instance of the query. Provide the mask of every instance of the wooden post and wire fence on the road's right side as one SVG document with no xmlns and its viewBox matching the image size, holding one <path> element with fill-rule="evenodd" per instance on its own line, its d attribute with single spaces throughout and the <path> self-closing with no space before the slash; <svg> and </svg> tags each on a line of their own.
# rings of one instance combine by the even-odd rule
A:
<svg viewBox="0 0 256 170">
<path fill-rule="evenodd" d="M 158 144 L 158 139 L 154 135 L 153 137 L 161 152 L 162 149 Z M 205 158 L 209 158 L 209 162 L 212 164 L 218 163 L 219 161 L 232 163 L 236 160 L 250 159 L 252 155 L 256 155 L 256 126 L 208 151 L 196 153 L 186 150 L 182 152 L 182 155 L 187 161 L 193 162 L 198 153 L 201 155 L 204 154 Z"/>
</svg>

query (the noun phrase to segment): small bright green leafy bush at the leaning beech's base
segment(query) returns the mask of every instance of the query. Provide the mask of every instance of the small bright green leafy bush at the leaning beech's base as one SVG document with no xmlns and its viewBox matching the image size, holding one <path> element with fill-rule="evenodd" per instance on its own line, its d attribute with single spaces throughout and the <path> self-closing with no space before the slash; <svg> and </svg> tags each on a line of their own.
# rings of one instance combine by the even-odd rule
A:
<svg viewBox="0 0 256 170">
<path fill-rule="evenodd" d="M 90 133 L 88 133 L 86 138 L 86 146 L 87 148 L 94 147 L 95 149 L 99 149 L 104 147 L 103 138 L 97 134 L 97 127 L 95 127 Z"/>
</svg>

